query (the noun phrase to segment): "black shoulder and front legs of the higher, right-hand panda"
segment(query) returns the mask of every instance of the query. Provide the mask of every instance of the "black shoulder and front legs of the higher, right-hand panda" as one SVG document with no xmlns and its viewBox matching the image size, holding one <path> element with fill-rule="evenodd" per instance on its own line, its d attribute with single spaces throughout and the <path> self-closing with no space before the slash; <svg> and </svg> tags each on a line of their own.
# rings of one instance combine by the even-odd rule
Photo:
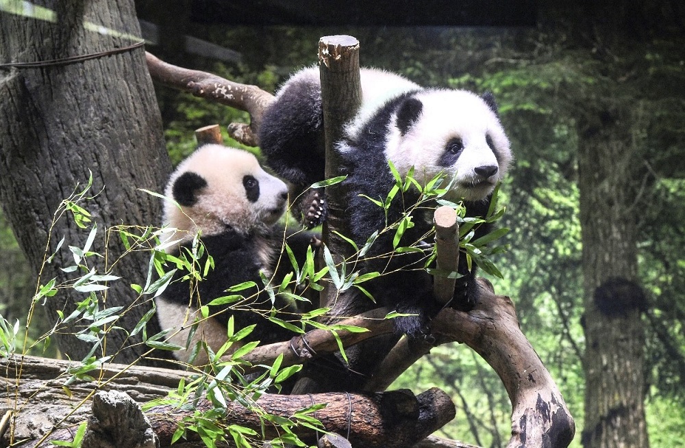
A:
<svg viewBox="0 0 685 448">
<path fill-rule="evenodd" d="M 370 200 L 360 196 L 364 194 L 371 198 L 384 200 L 395 184 L 395 179 L 387 167 L 388 161 L 384 155 L 384 133 L 390 122 L 393 111 L 403 103 L 403 98 L 396 98 L 388 102 L 385 107 L 379 109 L 378 114 L 366 124 L 359 135 L 368 137 L 363 141 L 349 141 L 351 150 L 344 153 L 345 162 L 351 168 L 345 186 L 351 192 L 349 194 L 348 228 L 351 229 L 352 239 L 359 247 L 375 231 L 384 228 L 387 224 L 393 224 L 401 219 L 404 206 L 399 196 L 395 197 L 390 209 L 386 214 L 383 209 Z M 404 204 L 408 207 L 419 201 L 419 192 L 410 189 L 404 194 Z M 468 216 L 484 216 L 490 207 L 490 198 L 479 202 L 466 204 Z M 432 223 L 426 217 L 414 216 L 414 227 L 406 230 L 401 244 L 410 244 L 419 241 L 425 233 L 432 228 Z M 488 233 L 487 226 L 480 226 L 476 230 L 475 238 Z M 395 328 L 399 334 L 408 334 L 410 337 L 420 337 L 428 332 L 429 319 L 439 311 L 432 296 L 432 276 L 427 274 L 423 267 L 422 256 L 416 253 L 400 254 L 393 256 L 389 262 L 387 259 L 373 260 L 374 256 L 390 252 L 393 248 L 394 231 L 390 231 L 378 237 L 371 251 L 366 255 L 371 261 L 367 262 L 366 271 L 393 271 L 403 269 L 401 272 L 388 274 L 378 278 L 375 282 L 369 282 L 369 291 L 379 304 L 384 306 L 397 306 L 400 313 L 416 314 L 410 317 L 398 317 L 395 319 Z M 386 267 L 387 266 L 387 267 Z M 451 306 L 462 310 L 468 310 L 475 304 L 477 288 L 475 287 L 475 269 L 469 272 L 466 264 L 466 256 L 460 256 L 459 273 L 462 278 L 457 282 L 455 297 Z M 398 302 L 397 298 L 402 298 Z M 368 308 L 374 305 L 369 303 Z M 364 310 L 362 310 L 364 311 Z"/>
</svg>

